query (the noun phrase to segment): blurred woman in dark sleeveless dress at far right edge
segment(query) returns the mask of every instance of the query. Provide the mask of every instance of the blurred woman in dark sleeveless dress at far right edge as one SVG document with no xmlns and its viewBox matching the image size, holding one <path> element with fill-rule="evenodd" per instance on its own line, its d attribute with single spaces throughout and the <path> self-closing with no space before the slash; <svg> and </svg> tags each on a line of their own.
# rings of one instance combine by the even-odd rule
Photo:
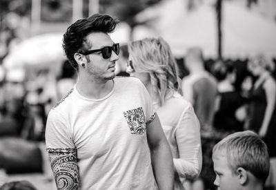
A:
<svg viewBox="0 0 276 190">
<path fill-rule="evenodd" d="M 248 62 L 248 70 L 256 77 L 249 97 L 248 129 L 255 131 L 266 142 L 271 162 L 271 179 L 276 185 L 276 82 L 271 73 L 272 61 L 257 55 Z"/>
</svg>

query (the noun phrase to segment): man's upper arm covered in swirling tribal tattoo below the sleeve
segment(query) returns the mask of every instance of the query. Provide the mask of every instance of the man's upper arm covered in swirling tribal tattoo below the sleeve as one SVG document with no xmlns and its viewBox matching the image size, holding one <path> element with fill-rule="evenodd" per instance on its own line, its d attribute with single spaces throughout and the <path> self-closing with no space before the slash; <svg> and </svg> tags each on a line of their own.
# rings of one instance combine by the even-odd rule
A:
<svg viewBox="0 0 276 190">
<path fill-rule="evenodd" d="M 75 190 L 79 187 L 76 149 L 47 149 L 57 189 Z"/>
</svg>

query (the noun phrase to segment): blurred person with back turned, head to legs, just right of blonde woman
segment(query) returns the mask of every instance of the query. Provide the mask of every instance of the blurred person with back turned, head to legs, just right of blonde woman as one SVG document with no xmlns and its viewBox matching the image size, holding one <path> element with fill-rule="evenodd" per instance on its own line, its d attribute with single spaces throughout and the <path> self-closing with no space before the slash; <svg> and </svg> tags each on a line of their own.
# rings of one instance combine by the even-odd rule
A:
<svg viewBox="0 0 276 190">
<path fill-rule="evenodd" d="M 202 144 L 202 169 L 199 180 L 194 182 L 195 189 L 212 189 L 215 173 L 211 169 L 212 149 L 215 143 L 215 102 L 217 99 L 217 80 L 204 67 L 204 57 L 200 48 L 189 48 L 185 57 L 185 66 L 190 73 L 182 79 L 184 97 L 195 108 L 200 123 Z"/>
</svg>

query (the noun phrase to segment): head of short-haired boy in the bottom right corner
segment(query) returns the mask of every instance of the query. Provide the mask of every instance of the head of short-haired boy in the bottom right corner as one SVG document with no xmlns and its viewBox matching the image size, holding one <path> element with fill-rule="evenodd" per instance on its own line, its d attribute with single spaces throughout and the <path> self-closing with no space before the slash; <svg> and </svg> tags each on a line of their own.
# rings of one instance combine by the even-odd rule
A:
<svg viewBox="0 0 276 190">
<path fill-rule="evenodd" d="M 213 148 L 216 179 L 221 190 L 263 184 L 269 173 L 266 144 L 253 131 L 228 135 Z M 253 182 L 254 180 L 254 182 Z"/>
</svg>

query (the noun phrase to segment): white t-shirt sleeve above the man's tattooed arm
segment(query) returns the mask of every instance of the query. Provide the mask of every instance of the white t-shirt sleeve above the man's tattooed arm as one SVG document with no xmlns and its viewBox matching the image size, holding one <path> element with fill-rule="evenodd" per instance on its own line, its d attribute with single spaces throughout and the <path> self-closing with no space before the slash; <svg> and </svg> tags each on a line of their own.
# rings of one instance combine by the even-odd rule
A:
<svg viewBox="0 0 276 190">
<path fill-rule="evenodd" d="M 45 138 L 47 151 L 75 149 L 68 124 L 55 109 L 48 115 Z"/>
</svg>

